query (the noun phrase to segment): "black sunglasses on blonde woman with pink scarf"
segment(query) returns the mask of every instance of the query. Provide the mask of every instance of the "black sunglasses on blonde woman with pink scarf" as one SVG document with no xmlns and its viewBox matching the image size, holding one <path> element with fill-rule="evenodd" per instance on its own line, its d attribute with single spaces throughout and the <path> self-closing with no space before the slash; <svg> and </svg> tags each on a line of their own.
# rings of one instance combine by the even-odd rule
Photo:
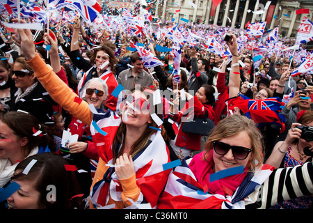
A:
<svg viewBox="0 0 313 223">
<path fill-rule="evenodd" d="M 232 155 L 238 160 L 245 160 L 249 153 L 252 151 L 250 148 L 245 148 L 242 146 L 230 146 L 221 141 L 213 141 L 214 151 L 218 155 L 225 155 L 232 149 Z"/>
</svg>

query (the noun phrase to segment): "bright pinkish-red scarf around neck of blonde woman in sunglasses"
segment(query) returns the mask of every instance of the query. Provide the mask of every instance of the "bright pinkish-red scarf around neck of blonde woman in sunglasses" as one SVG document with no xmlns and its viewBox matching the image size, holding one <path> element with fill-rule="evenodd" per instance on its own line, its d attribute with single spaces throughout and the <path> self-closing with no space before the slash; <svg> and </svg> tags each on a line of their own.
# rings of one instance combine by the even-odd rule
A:
<svg viewBox="0 0 313 223">
<path fill-rule="evenodd" d="M 188 165 L 195 178 L 197 178 L 198 183 L 204 186 L 207 185 L 209 189 L 209 193 L 211 194 L 221 194 L 225 196 L 226 194 L 232 196 L 236 191 L 237 187 L 241 185 L 243 179 L 247 175 L 248 167 L 246 167 L 242 174 L 236 174 L 234 176 L 227 176 L 220 180 L 215 180 L 213 182 L 209 182 L 210 174 L 214 174 L 214 161 L 213 161 L 213 153 L 211 150 L 209 153 L 209 159 L 204 160 L 204 153 L 198 153 L 193 157 L 190 164 Z"/>
</svg>

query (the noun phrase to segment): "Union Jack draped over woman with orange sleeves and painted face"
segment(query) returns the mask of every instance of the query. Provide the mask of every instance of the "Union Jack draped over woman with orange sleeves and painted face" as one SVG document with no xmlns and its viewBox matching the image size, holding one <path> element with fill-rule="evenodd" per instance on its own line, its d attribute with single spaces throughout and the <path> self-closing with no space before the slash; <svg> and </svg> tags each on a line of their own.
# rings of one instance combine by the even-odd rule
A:
<svg viewBox="0 0 313 223">
<path fill-rule="evenodd" d="M 90 126 L 93 141 L 97 146 L 99 155 L 109 164 L 113 163 L 113 153 L 118 153 L 120 146 L 111 148 L 114 136 L 120 125 L 120 117 L 114 112 L 108 111 L 106 114 L 94 114 L 94 121 L 99 128 L 107 132 L 106 136 L 97 132 L 94 125 Z M 160 131 L 152 134 L 147 145 L 133 158 L 136 171 L 136 183 L 141 189 L 141 194 L 136 203 L 150 203 L 152 208 L 156 208 L 157 200 L 164 186 L 170 169 L 163 171 L 163 164 L 170 162 L 169 151 Z M 122 201 L 122 186 L 115 174 L 114 167 L 110 167 L 104 174 L 104 178 L 95 183 L 90 191 L 90 201 L 96 208 L 106 206 L 109 196 L 114 201 Z M 109 195 L 109 196 L 108 196 Z"/>
</svg>

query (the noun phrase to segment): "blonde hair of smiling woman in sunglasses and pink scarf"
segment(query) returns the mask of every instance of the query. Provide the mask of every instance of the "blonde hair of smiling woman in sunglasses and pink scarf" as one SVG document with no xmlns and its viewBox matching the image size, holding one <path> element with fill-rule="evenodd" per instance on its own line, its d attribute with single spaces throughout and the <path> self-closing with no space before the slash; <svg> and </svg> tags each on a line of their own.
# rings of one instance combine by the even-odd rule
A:
<svg viewBox="0 0 313 223">
<path fill-rule="evenodd" d="M 264 151 L 262 134 L 257 129 L 254 121 L 237 114 L 227 116 L 227 118 L 218 122 L 218 125 L 216 125 L 216 128 L 214 128 L 205 144 L 204 159 L 209 160 L 209 152 L 214 148 L 213 141 L 232 137 L 243 131 L 247 132 L 252 145 L 251 159 L 248 162 L 249 171 L 255 171 L 258 167 L 261 167 Z"/>
</svg>

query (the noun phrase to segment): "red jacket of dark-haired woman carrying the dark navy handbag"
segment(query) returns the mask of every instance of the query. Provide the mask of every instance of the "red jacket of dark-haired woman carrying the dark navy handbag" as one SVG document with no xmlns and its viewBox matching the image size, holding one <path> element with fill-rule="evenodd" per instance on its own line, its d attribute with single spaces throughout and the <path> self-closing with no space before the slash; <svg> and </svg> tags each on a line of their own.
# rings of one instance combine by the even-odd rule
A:
<svg viewBox="0 0 313 223">
<path fill-rule="evenodd" d="M 197 116 L 197 117 L 203 117 L 205 114 L 205 110 L 207 110 L 207 118 L 214 120 L 214 110 L 211 105 L 202 105 L 202 103 L 198 100 L 197 97 L 193 97 L 191 100 L 194 101 L 194 109 L 191 109 L 191 114 Z M 174 116 L 174 121 L 177 121 L 177 123 L 181 123 L 179 132 L 177 134 L 176 138 L 176 146 L 179 146 L 181 148 L 188 148 L 195 151 L 201 150 L 201 135 L 200 134 L 192 134 L 192 133 L 186 133 L 182 131 L 182 125 L 184 125 L 182 121 L 183 114 L 187 114 L 188 105 L 189 102 L 186 102 L 185 107 L 182 109 L 182 111 L 179 112 L 178 115 Z M 190 114 L 190 113 L 189 113 Z"/>
</svg>

